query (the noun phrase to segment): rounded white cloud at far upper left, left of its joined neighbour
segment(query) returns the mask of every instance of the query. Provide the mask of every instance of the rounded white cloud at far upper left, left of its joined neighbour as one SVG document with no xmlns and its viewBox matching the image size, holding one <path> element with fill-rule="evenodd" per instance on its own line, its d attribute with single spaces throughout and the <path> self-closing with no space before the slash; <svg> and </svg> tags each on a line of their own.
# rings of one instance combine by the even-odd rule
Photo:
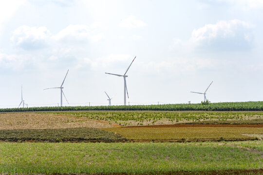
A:
<svg viewBox="0 0 263 175">
<path fill-rule="evenodd" d="M 15 45 L 25 50 L 41 49 L 47 46 L 50 32 L 46 27 L 29 27 L 26 25 L 17 28 L 11 37 Z"/>
</svg>

